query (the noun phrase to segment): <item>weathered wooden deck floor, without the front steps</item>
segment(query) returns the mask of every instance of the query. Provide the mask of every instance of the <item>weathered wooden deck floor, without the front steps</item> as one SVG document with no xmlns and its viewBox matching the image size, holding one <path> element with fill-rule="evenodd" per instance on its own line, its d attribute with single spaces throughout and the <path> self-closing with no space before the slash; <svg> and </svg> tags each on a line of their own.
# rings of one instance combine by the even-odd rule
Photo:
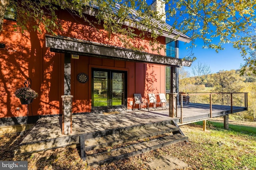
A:
<svg viewBox="0 0 256 170">
<path fill-rule="evenodd" d="M 58 117 L 44 117 L 38 120 L 30 133 L 26 135 L 20 145 L 33 144 L 38 141 L 54 141 L 56 146 L 69 143 L 73 140 L 73 144 L 79 143 L 79 135 L 86 133 L 94 133 L 96 131 L 106 131 L 108 129 L 117 129 L 121 127 L 131 127 L 135 125 L 148 124 L 152 122 L 174 121 L 178 125 L 189 124 L 192 122 L 210 119 L 210 105 L 193 104 L 183 106 L 183 114 L 181 123 L 180 107 L 177 109 L 177 117 L 169 117 L 169 109 L 157 108 L 150 111 L 146 109 L 122 111 L 118 114 L 89 113 L 72 116 L 72 134 L 62 135 L 60 120 Z M 246 107 L 234 107 L 232 113 L 245 111 Z M 212 105 L 212 117 L 220 117 L 231 113 L 230 106 Z M 70 139 L 72 136 L 72 139 Z M 59 141 L 55 141 L 58 139 Z M 71 142 L 72 143 L 72 142 Z M 70 144 L 71 144 L 70 143 Z M 65 144 L 66 145 L 66 144 Z M 40 149 L 39 149 L 40 150 Z M 42 148 L 41 150 L 44 150 Z M 29 151 L 29 150 L 28 150 Z"/>
</svg>

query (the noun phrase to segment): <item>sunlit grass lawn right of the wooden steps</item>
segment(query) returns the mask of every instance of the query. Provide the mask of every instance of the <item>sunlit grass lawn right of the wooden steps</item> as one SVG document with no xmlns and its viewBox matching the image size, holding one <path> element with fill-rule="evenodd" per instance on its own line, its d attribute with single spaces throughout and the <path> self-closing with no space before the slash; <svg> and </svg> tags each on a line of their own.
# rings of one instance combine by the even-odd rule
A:
<svg viewBox="0 0 256 170">
<path fill-rule="evenodd" d="M 190 143 L 187 147 L 178 144 L 172 155 L 189 164 L 188 169 L 255 170 L 256 127 L 230 124 L 225 130 L 223 123 L 209 125 L 205 132 L 202 125 L 182 127 Z"/>
</svg>

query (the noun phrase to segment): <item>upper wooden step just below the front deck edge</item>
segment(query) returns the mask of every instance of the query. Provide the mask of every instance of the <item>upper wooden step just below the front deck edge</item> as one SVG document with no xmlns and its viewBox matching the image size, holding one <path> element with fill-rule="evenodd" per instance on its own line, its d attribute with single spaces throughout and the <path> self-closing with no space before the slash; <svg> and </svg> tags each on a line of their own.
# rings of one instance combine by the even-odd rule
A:
<svg viewBox="0 0 256 170">
<path fill-rule="evenodd" d="M 164 133 L 179 131 L 179 129 L 179 127 L 176 127 L 174 125 L 162 125 L 157 127 L 149 127 L 147 129 L 124 131 L 123 133 L 115 135 L 86 140 L 85 147 L 86 151 L 94 150 L 112 145 L 117 145 L 120 143 L 126 143 L 128 141 L 134 141 L 137 139 L 143 139 L 146 137 L 152 137 Z"/>
</svg>

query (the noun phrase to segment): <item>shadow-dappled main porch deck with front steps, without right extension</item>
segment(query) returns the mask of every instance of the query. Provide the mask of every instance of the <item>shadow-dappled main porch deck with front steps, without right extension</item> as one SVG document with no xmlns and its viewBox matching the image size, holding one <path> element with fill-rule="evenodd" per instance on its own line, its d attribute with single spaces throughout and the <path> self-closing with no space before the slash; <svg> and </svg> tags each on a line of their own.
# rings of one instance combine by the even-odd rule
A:
<svg viewBox="0 0 256 170">
<path fill-rule="evenodd" d="M 137 110 L 106 115 L 72 115 L 72 134 L 62 135 L 59 118 L 44 117 L 38 120 L 19 144 L 16 154 L 74 146 L 80 147 L 81 158 L 87 160 L 88 165 L 99 166 L 188 141 L 175 119 L 178 118 Z M 121 145 L 128 142 L 132 142 L 132 145 Z M 90 154 L 91 150 L 113 146 L 118 148 Z"/>
</svg>

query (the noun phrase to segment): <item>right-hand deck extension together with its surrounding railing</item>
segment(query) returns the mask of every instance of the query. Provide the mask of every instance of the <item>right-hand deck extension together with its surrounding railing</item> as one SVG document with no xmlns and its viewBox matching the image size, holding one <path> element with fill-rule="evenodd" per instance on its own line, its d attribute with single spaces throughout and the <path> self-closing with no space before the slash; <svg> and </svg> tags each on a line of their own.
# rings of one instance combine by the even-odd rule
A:
<svg viewBox="0 0 256 170">
<path fill-rule="evenodd" d="M 178 94 L 173 93 L 169 95 L 177 96 Z M 170 111 L 175 117 L 179 117 L 179 121 L 176 122 L 179 125 L 206 120 L 212 117 L 221 117 L 248 109 L 247 92 L 186 93 L 180 94 L 180 96 L 189 96 L 189 98 L 180 103 L 182 106 L 175 106 L 177 104 L 175 100 L 172 100 L 172 105 L 177 109 Z"/>
</svg>

